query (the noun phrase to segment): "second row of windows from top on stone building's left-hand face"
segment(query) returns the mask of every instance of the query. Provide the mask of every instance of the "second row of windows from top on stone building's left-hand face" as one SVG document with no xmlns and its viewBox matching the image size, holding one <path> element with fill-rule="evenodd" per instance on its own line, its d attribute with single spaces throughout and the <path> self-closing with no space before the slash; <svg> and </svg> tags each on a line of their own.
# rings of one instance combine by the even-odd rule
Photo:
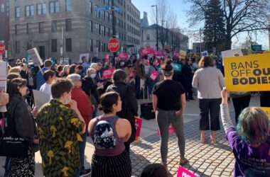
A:
<svg viewBox="0 0 270 177">
<path fill-rule="evenodd" d="M 38 23 L 38 33 L 44 33 L 44 24 L 45 22 Z M 32 33 L 32 23 L 26 23 L 26 34 Z M 72 30 L 72 21 L 71 19 L 65 19 L 65 31 Z M 58 21 L 52 21 L 51 23 L 51 32 L 56 33 L 58 31 Z M 15 25 L 15 35 L 21 35 L 21 24 Z"/>
</svg>

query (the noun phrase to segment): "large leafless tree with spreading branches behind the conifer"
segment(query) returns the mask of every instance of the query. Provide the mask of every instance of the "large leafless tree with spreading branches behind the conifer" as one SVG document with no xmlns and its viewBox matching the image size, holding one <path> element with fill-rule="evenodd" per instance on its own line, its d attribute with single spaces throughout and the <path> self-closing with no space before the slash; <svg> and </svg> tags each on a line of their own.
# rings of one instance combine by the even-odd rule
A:
<svg viewBox="0 0 270 177">
<path fill-rule="evenodd" d="M 190 25 L 201 23 L 207 0 L 186 0 L 192 4 L 189 11 Z M 226 28 L 226 49 L 232 47 L 232 38 L 239 33 L 266 31 L 270 0 L 222 0 Z"/>
</svg>

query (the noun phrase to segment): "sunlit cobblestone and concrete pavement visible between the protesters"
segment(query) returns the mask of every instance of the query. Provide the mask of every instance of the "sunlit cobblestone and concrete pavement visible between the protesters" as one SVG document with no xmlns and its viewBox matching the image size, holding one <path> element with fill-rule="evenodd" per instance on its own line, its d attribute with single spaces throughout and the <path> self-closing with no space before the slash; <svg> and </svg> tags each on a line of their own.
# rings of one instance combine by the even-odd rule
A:
<svg viewBox="0 0 270 177">
<path fill-rule="evenodd" d="M 145 103 L 146 101 L 138 101 Z M 251 106 L 259 105 L 259 97 L 252 97 Z M 229 105 L 231 115 L 233 113 L 232 103 Z M 198 101 L 188 101 L 184 115 L 185 128 L 185 156 L 189 163 L 184 167 L 192 171 L 196 176 L 232 176 L 234 170 L 234 156 L 229 149 L 225 139 L 224 130 L 217 132 L 217 144 L 210 144 L 210 138 L 206 139 L 205 144 L 200 144 L 199 136 L 199 113 Z M 139 113 L 140 115 L 140 113 Z M 232 116 L 232 120 L 234 117 Z M 210 132 L 207 132 L 210 137 Z M 90 167 L 94 147 L 90 144 L 87 137 L 85 148 L 85 167 Z M 168 169 L 173 176 L 176 175 L 179 164 L 179 150 L 177 138 L 170 135 L 168 142 Z M 4 166 L 4 157 L 0 157 L 0 166 Z M 143 120 L 141 130 L 141 140 L 131 144 L 132 175 L 139 176 L 144 167 L 152 163 L 161 163 L 160 141 L 157 135 L 155 120 Z M 4 169 L 0 167 L 0 176 L 4 176 Z M 41 155 L 36 153 L 36 176 L 41 177 Z"/>
</svg>

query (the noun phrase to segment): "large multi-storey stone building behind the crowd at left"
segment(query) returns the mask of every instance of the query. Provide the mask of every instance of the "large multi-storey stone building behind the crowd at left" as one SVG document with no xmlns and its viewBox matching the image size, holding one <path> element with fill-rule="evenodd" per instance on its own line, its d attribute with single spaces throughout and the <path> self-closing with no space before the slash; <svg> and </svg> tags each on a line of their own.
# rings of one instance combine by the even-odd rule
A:
<svg viewBox="0 0 270 177">
<path fill-rule="evenodd" d="M 111 0 L 28 0 L 10 1 L 11 57 L 23 57 L 36 47 L 42 59 L 69 58 L 78 62 L 80 54 L 103 59 L 110 54 L 107 42 L 112 38 Z M 140 46 L 139 10 L 131 0 L 114 0 L 119 52 L 137 53 Z"/>
</svg>

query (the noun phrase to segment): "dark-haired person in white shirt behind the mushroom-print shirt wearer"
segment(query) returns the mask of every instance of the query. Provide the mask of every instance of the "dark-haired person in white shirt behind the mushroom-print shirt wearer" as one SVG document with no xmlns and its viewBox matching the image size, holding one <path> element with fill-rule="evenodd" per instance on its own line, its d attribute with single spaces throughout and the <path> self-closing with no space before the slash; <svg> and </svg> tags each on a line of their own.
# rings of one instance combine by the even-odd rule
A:
<svg viewBox="0 0 270 177">
<path fill-rule="evenodd" d="M 43 73 L 43 78 L 45 80 L 45 83 L 41 86 L 40 91 L 47 94 L 48 96 L 51 96 L 52 93 L 50 91 L 50 88 L 53 84 L 53 81 L 55 81 L 55 72 L 53 72 L 52 70 L 47 70 Z"/>
</svg>

